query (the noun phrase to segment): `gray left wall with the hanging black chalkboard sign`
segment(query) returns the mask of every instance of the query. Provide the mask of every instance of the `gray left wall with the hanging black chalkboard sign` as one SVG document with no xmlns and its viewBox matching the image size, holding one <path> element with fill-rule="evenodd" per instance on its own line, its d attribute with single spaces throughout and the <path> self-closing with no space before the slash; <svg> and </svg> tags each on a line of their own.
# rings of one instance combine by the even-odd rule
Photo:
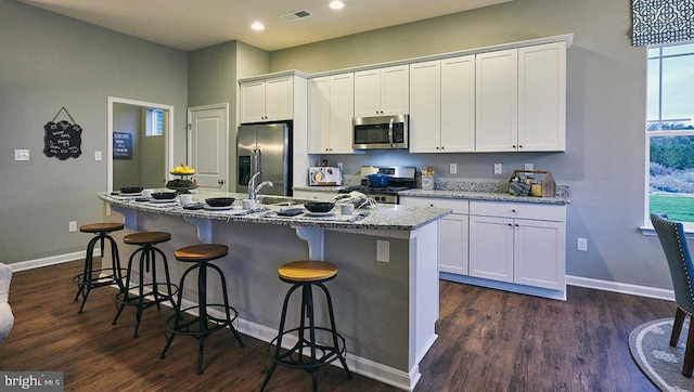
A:
<svg viewBox="0 0 694 392">
<path fill-rule="evenodd" d="M 103 218 L 108 96 L 174 105 L 184 159 L 187 54 L 12 0 L 0 0 L 0 261 L 83 251 L 89 236 L 67 228 Z M 63 106 L 83 128 L 76 159 L 42 153 Z M 30 160 L 14 161 L 15 148 Z"/>
</svg>

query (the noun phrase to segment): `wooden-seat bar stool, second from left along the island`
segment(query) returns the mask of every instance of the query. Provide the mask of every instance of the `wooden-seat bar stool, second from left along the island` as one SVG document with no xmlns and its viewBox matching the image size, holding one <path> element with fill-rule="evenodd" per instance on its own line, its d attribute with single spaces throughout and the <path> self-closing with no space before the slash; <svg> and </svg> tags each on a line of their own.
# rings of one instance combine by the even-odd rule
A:
<svg viewBox="0 0 694 392">
<path fill-rule="evenodd" d="M 114 317 L 112 324 L 116 324 L 120 313 L 126 305 L 132 305 L 137 309 L 136 324 L 134 324 L 134 338 L 138 337 L 138 330 L 140 328 L 140 321 L 142 319 L 142 311 L 156 305 L 157 309 L 162 309 L 160 303 L 170 301 L 171 306 L 176 310 L 174 303 L 174 296 L 178 291 L 176 285 L 171 285 L 169 277 L 169 266 L 166 261 L 166 254 L 156 247 L 157 244 L 165 243 L 171 239 L 171 234 L 166 232 L 142 232 L 128 234 L 123 238 L 123 241 L 129 245 L 137 245 L 139 248 L 132 252 L 128 260 L 128 276 L 132 276 L 132 261 L 140 254 L 140 269 L 139 280 L 134 287 L 130 286 L 130 279 L 126 280 L 125 288 L 121 292 L 116 295 L 116 302 L 118 303 L 118 313 Z M 164 282 L 159 282 L 156 276 L 156 254 L 162 257 L 162 264 L 164 266 Z M 146 273 L 151 273 L 152 279 L 150 283 L 144 282 Z M 138 293 L 132 295 L 131 289 L 137 289 Z M 163 291 L 164 290 L 164 291 Z"/>
</svg>

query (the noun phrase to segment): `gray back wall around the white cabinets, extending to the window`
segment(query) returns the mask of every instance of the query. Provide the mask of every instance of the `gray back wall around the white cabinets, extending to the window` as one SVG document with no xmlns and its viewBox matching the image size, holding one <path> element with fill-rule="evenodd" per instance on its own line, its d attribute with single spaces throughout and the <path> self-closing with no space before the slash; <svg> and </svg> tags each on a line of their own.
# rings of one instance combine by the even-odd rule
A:
<svg viewBox="0 0 694 392">
<path fill-rule="evenodd" d="M 567 151 L 555 154 L 327 156 L 348 173 L 363 164 L 436 166 L 439 175 L 504 181 L 532 162 L 571 186 L 567 273 L 670 288 L 657 239 L 644 237 L 646 51 L 630 42 L 628 0 L 515 0 L 271 53 L 271 70 L 325 71 L 414 56 L 574 34 L 567 54 Z M 448 164 L 458 173 L 448 174 Z M 492 164 L 503 164 L 494 177 Z M 588 238 L 589 251 L 576 250 Z"/>
</svg>

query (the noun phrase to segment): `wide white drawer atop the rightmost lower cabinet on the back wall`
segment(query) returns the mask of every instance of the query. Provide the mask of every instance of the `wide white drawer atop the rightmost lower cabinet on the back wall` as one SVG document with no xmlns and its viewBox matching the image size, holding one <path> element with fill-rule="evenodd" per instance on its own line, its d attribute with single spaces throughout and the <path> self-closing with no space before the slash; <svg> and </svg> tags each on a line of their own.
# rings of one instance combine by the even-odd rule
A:
<svg viewBox="0 0 694 392">
<path fill-rule="evenodd" d="M 566 220 L 566 207 L 561 205 L 472 200 L 470 201 L 470 214 L 564 222 Z"/>
</svg>

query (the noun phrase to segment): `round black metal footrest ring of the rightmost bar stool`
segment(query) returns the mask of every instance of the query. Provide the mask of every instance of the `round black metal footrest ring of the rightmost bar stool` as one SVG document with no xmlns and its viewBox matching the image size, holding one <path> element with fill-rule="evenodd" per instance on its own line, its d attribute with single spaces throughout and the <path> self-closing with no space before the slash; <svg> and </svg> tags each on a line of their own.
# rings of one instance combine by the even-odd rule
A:
<svg viewBox="0 0 694 392">
<path fill-rule="evenodd" d="M 300 328 L 297 327 L 286 330 L 281 336 L 284 337 L 285 335 L 297 332 L 299 331 L 299 329 Z M 314 329 L 317 331 L 322 330 L 332 334 L 332 330 L 329 328 L 314 327 Z M 305 331 L 308 331 L 307 328 L 305 328 Z M 280 336 L 278 336 L 268 345 L 268 356 L 278 365 L 292 368 L 310 370 L 317 367 L 325 366 L 338 360 L 340 356 L 344 357 L 345 355 L 345 338 L 339 334 L 336 334 L 336 336 L 338 339 L 338 347 L 323 345 L 318 343 L 313 344 L 317 354 L 314 362 L 311 358 L 311 342 L 309 340 L 300 338 L 292 349 L 283 349 L 285 351 L 275 357 L 271 353 L 271 350 L 277 345 L 278 339 L 280 339 Z"/>
</svg>

